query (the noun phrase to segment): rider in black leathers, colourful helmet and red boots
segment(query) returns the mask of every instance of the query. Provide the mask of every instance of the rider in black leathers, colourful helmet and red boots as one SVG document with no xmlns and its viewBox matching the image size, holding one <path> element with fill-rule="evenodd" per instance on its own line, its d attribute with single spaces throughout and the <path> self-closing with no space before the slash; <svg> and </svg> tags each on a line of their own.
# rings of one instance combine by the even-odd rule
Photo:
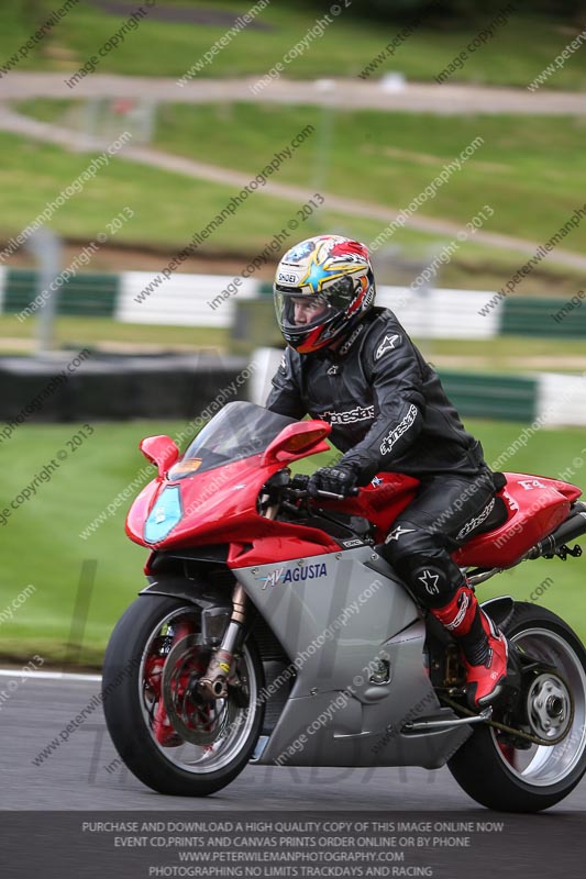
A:
<svg viewBox="0 0 586 879">
<path fill-rule="evenodd" d="M 339 235 L 302 241 L 280 260 L 274 296 L 288 347 L 266 405 L 329 422 L 344 453 L 313 474 L 310 493 L 346 496 L 386 470 L 420 480 L 377 549 L 458 642 L 469 703 L 486 705 L 501 691 L 507 642 L 450 555 L 495 505 L 480 444 L 395 314 L 373 307 L 364 244 Z"/>
</svg>

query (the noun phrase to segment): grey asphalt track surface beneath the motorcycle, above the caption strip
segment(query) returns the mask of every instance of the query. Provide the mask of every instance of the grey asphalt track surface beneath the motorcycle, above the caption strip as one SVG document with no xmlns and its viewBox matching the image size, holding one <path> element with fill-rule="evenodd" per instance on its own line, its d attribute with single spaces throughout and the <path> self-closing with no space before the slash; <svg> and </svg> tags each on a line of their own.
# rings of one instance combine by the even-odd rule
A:
<svg viewBox="0 0 586 879">
<path fill-rule="evenodd" d="M 20 680 L 18 672 L 12 674 Z M 0 674 L 0 690 L 9 677 Z M 1 703 L 0 809 L 163 811 L 442 811 L 476 817 L 471 800 L 445 768 L 287 768 L 248 766 L 229 787 L 204 799 L 164 797 L 118 763 L 101 706 L 41 765 L 33 760 L 99 692 L 96 678 L 20 680 Z M 559 819 L 586 813 L 586 779 L 549 810 Z M 529 819 L 528 819 L 529 820 Z M 557 823 L 559 827 L 562 825 Z M 586 831 L 586 825 L 585 825 Z M 586 833 L 583 843 L 586 843 Z M 586 849 L 585 849 L 586 860 Z"/>
</svg>

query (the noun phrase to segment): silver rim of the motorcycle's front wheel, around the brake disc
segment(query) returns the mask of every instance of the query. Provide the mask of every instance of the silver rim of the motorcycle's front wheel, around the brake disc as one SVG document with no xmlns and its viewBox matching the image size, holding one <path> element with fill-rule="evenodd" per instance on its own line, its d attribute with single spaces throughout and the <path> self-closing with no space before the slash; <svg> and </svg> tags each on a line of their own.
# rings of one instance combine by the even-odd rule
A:
<svg viewBox="0 0 586 879">
<path fill-rule="evenodd" d="M 184 636 L 176 645 L 185 645 L 184 654 L 179 657 L 172 656 L 172 642 L 177 631 L 185 633 L 186 628 L 191 635 Z M 194 613 L 194 608 L 185 607 L 168 613 L 151 632 L 143 650 L 139 670 L 139 696 L 143 721 L 150 732 L 151 739 L 165 759 L 184 771 L 194 775 L 217 772 L 230 764 L 242 753 L 244 743 L 248 739 L 255 720 L 257 700 L 256 676 L 252 656 L 246 645 L 242 648 L 239 660 L 239 672 L 247 688 L 248 706 L 234 704 L 233 697 L 215 700 L 210 703 L 210 711 L 203 715 L 201 705 L 196 705 L 189 692 L 180 690 L 177 681 L 181 674 L 195 679 L 198 668 L 207 665 L 209 648 L 197 644 L 199 638 L 199 619 Z M 170 674 L 165 670 L 165 676 L 173 681 L 167 700 L 174 699 L 174 709 L 165 709 L 165 693 L 163 691 L 163 669 L 166 658 L 170 657 L 177 668 Z M 156 716 L 161 713 L 166 717 L 166 735 L 157 737 Z M 186 737 L 194 741 L 187 741 Z M 164 741 L 159 741 L 163 737 Z M 200 744 L 196 744 L 199 742 Z"/>
</svg>

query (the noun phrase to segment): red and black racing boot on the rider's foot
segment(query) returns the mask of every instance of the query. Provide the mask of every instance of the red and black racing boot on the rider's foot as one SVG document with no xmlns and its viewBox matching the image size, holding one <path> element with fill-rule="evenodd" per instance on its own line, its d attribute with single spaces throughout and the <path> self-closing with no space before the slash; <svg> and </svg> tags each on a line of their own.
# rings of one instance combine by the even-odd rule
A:
<svg viewBox="0 0 586 879">
<path fill-rule="evenodd" d="M 447 604 L 430 612 L 460 645 L 469 706 L 486 708 L 500 696 L 507 676 L 505 635 L 483 611 L 469 586 L 461 586 Z"/>
</svg>

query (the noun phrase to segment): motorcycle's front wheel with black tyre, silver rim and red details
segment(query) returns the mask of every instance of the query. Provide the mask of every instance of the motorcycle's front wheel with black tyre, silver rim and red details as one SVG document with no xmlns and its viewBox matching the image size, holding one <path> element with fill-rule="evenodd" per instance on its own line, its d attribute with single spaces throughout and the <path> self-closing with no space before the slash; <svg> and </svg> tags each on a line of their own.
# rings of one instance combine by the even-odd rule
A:
<svg viewBox="0 0 586 879">
<path fill-rule="evenodd" d="M 244 769 L 258 738 L 263 667 L 254 643 L 242 647 L 224 699 L 210 701 L 198 690 L 210 656 L 199 608 L 161 596 L 131 604 L 108 644 L 108 731 L 129 769 L 159 793 L 220 790 Z"/>
</svg>

